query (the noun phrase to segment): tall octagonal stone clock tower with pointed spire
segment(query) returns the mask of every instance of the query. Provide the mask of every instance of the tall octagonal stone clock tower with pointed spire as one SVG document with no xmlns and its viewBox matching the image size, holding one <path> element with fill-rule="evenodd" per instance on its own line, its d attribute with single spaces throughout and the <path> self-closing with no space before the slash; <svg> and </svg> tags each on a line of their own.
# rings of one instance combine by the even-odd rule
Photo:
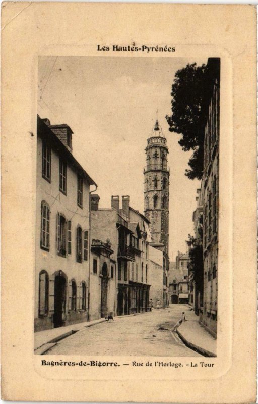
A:
<svg viewBox="0 0 258 404">
<path fill-rule="evenodd" d="M 169 168 L 167 140 L 158 119 L 147 140 L 144 168 L 144 214 L 150 221 L 153 246 L 163 251 L 163 306 L 168 305 Z"/>
</svg>

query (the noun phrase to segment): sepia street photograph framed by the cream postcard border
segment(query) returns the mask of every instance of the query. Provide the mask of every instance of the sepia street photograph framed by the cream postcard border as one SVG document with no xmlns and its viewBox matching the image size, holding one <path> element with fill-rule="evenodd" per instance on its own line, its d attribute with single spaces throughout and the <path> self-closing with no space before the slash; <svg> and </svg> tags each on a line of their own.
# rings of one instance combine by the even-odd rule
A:
<svg viewBox="0 0 258 404">
<path fill-rule="evenodd" d="M 220 59 L 38 59 L 34 353 L 215 357 Z"/>
</svg>

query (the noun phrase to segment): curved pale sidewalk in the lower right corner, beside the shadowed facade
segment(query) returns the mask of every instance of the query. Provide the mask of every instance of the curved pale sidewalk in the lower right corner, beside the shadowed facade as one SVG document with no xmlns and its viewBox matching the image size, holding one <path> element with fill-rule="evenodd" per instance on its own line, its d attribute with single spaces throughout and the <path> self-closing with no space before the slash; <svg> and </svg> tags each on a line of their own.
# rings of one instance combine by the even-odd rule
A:
<svg viewBox="0 0 258 404">
<path fill-rule="evenodd" d="M 200 324 L 199 317 L 193 311 L 185 312 L 186 320 L 177 329 L 181 340 L 191 349 L 206 357 L 216 357 L 217 340 Z"/>
</svg>

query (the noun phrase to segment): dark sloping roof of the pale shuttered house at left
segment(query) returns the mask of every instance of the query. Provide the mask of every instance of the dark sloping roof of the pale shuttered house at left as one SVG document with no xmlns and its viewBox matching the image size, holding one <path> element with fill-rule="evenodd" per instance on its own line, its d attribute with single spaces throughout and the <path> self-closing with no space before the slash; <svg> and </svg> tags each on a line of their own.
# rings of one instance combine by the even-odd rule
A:
<svg viewBox="0 0 258 404">
<path fill-rule="evenodd" d="M 84 168 L 72 155 L 71 151 L 69 151 L 68 148 L 61 142 L 61 140 L 58 139 L 51 128 L 43 121 L 43 119 L 40 118 L 39 115 L 37 116 L 37 135 L 40 136 L 42 139 L 46 139 L 57 151 L 58 154 L 64 156 L 67 159 L 71 167 L 80 172 L 80 175 L 85 178 L 90 185 L 97 186 L 96 182 L 87 174 Z"/>
</svg>

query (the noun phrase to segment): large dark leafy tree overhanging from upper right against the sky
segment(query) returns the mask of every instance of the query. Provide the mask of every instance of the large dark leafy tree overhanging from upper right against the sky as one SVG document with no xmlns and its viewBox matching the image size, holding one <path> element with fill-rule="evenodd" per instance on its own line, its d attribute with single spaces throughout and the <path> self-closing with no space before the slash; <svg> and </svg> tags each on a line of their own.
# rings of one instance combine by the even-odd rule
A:
<svg viewBox="0 0 258 404">
<path fill-rule="evenodd" d="M 178 141 L 184 151 L 193 150 L 185 170 L 189 179 L 201 179 L 204 159 L 202 101 L 207 91 L 206 65 L 188 64 L 178 70 L 171 89 L 172 115 L 166 116 L 170 132 L 181 134 Z"/>
</svg>

